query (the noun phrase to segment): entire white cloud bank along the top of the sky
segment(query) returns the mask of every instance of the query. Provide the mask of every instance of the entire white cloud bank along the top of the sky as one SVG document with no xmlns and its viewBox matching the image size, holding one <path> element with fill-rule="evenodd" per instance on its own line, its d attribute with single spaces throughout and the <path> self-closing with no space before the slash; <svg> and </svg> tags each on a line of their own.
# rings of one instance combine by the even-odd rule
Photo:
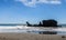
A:
<svg viewBox="0 0 66 40">
<path fill-rule="evenodd" d="M 15 0 L 22 2 L 24 6 L 34 7 L 37 3 L 61 4 L 61 0 Z"/>
</svg>

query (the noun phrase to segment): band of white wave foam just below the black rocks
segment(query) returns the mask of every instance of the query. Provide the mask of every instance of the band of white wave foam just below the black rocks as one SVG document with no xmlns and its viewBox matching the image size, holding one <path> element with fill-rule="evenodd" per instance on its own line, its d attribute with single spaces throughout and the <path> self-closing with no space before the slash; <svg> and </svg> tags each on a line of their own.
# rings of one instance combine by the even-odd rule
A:
<svg viewBox="0 0 66 40">
<path fill-rule="evenodd" d="M 22 30 L 38 30 L 38 31 L 66 31 L 66 28 L 37 28 L 37 27 L 26 27 L 26 26 L 10 26 L 10 27 L 4 27 L 0 26 L 0 29 L 22 29 Z"/>
</svg>

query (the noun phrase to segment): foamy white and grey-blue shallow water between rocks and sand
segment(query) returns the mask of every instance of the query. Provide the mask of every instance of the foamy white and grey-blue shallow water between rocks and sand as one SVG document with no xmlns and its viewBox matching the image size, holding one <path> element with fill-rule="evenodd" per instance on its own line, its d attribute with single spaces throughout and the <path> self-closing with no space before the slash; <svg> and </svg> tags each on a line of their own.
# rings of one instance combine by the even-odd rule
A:
<svg viewBox="0 0 66 40">
<path fill-rule="evenodd" d="M 26 26 L 0 26 L 0 33 L 16 32 L 16 33 L 38 33 L 40 31 L 56 31 L 57 34 L 66 34 L 66 28 L 35 28 Z"/>
</svg>

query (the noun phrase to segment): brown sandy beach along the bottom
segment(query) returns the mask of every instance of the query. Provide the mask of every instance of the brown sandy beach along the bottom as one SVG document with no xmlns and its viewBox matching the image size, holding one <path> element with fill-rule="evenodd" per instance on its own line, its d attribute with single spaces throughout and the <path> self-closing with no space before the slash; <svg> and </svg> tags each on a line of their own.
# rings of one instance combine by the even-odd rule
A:
<svg viewBox="0 0 66 40">
<path fill-rule="evenodd" d="M 66 40 L 58 34 L 0 33 L 0 40 Z"/>
</svg>

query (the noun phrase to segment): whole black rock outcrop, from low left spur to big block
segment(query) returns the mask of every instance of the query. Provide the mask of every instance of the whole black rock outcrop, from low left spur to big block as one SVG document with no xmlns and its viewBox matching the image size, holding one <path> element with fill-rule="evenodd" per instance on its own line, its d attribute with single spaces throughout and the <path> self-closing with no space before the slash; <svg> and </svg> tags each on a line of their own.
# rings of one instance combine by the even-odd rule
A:
<svg viewBox="0 0 66 40">
<path fill-rule="evenodd" d="M 57 26 L 57 21 L 54 19 L 50 19 L 50 20 L 42 20 L 42 22 L 40 21 L 38 24 L 31 24 L 26 21 L 26 24 L 29 27 L 58 27 Z"/>
</svg>

